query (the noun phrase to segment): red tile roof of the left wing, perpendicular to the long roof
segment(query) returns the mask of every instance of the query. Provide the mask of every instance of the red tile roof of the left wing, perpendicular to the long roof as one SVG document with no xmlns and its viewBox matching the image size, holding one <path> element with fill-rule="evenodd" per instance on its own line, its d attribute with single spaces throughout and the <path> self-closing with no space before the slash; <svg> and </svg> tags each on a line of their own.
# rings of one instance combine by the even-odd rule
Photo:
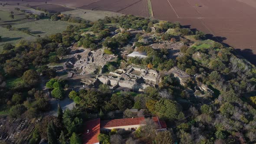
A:
<svg viewBox="0 0 256 144">
<path fill-rule="evenodd" d="M 89 130 L 89 133 L 87 133 Z M 100 118 L 86 121 L 85 122 L 85 131 L 82 134 L 83 144 L 95 144 L 98 143 L 98 134 L 100 133 Z"/>
</svg>

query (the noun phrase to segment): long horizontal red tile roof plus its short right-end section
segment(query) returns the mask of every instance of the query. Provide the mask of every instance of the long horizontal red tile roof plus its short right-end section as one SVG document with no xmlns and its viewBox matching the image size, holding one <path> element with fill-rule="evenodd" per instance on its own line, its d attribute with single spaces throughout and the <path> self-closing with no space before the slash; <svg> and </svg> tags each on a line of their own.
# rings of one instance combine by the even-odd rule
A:
<svg viewBox="0 0 256 144">
<path fill-rule="evenodd" d="M 158 117 L 152 117 L 152 120 L 158 125 L 158 129 L 167 128 L 165 122 L 159 121 Z M 145 121 L 144 117 L 107 120 L 107 121 L 100 122 L 100 128 L 112 128 L 112 127 L 121 127 L 121 126 L 128 126 L 128 125 L 139 125 L 139 124 L 143 124 L 144 121 Z"/>
</svg>

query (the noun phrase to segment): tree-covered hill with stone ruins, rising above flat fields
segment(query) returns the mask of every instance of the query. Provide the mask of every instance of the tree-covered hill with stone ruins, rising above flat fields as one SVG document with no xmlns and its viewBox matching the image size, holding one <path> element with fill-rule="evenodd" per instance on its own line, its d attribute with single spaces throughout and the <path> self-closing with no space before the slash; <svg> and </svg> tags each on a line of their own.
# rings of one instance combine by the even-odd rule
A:
<svg viewBox="0 0 256 144">
<path fill-rule="evenodd" d="M 177 22 L 50 14 L 45 20 L 69 22 L 66 30 L 3 45 L 0 141 L 80 144 L 89 120 L 134 117 L 149 119 L 101 131 L 98 141 L 256 141 L 256 68 L 232 47 Z"/>
</svg>

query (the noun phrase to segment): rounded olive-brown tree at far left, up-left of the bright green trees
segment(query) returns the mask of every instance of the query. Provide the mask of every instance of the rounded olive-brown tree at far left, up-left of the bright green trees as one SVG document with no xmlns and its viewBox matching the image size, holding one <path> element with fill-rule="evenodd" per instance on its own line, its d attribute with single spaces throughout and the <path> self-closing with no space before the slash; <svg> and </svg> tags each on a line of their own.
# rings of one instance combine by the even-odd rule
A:
<svg viewBox="0 0 256 144">
<path fill-rule="evenodd" d="M 39 74 L 34 69 L 24 72 L 22 78 L 24 82 L 30 86 L 36 85 L 39 82 Z"/>
</svg>

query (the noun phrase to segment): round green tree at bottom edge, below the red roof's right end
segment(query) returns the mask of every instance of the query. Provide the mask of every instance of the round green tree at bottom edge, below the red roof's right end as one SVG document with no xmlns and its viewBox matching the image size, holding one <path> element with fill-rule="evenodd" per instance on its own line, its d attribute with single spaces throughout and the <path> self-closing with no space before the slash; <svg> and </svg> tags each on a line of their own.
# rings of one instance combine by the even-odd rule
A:
<svg viewBox="0 0 256 144">
<path fill-rule="evenodd" d="M 156 144 L 173 144 L 174 143 L 174 138 L 170 131 L 158 132 L 154 140 Z"/>
</svg>

